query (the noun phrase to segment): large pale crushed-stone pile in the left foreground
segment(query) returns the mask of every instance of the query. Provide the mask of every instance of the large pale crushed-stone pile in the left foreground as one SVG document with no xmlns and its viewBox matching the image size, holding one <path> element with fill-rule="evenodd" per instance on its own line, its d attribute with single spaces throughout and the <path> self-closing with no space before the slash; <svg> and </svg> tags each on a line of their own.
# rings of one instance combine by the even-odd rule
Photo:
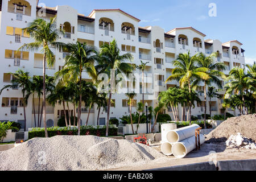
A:
<svg viewBox="0 0 256 182">
<path fill-rule="evenodd" d="M 0 152 L 0 171 L 90 171 L 146 164 L 166 156 L 128 140 L 94 136 L 34 138 Z"/>
</svg>

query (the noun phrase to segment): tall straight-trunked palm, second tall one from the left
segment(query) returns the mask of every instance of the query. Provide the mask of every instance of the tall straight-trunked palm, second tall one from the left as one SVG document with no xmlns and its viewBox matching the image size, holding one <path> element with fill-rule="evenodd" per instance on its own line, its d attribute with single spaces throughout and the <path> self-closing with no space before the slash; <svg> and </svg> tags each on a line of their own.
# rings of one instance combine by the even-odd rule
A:
<svg viewBox="0 0 256 182">
<path fill-rule="evenodd" d="M 81 107 L 82 107 L 82 72 L 86 71 L 94 80 L 97 73 L 94 68 L 94 62 L 97 59 L 97 51 L 93 46 L 87 46 L 86 43 L 69 43 L 65 46 L 70 55 L 65 57 L 63 69 L 55 74 L 56 78 L 63 76 L 64 80 L 75 80 L 79 82 L 79 110 L 78 110 L 78 135 L 81 130 Z"/>
</svg>

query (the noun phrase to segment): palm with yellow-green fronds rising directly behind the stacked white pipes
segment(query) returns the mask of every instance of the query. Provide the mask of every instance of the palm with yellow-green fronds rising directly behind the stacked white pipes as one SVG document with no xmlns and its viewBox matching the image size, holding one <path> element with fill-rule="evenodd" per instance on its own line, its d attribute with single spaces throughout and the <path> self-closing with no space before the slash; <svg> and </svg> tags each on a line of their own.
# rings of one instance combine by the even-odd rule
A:
<svg viewBox="0 0 256 182">
<path fill-rule="evenodd" d="M 197 54 L 194 56 L 190 56 L 190 52 L 188 53 L 180 53 L 177 57 L 177 60 L 173 61 L 174 67 L 176 67 L 172 71 L 172 75 L 167 78 L 166 83 L 172 80 L 179 80 L 179 84 L 181 88 L 184 88 L 184 85 L 188 85 L 189 93 L 191 93 L 191 84 L 193 80 L 203 79 L 208 80 L 209 75 L 207 75 L 208 69 L 206 68 L 198 68 L 196 67 L 197 63 Z M 191 124 L 191 107 L 192 102 L 189 101 L 189 122 Z"/>
</svg>

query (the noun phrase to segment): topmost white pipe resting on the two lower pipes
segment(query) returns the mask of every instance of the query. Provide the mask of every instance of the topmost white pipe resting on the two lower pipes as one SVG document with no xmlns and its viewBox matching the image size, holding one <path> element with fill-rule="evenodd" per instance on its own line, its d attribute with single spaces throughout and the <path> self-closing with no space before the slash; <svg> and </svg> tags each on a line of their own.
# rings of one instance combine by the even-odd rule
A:
<svg viewBox="0 0 256 182">
<path fill-rule="evenodd" d="M 198 129 L 199 127 L 199 125 L 193 124 L 191 126 L 186 126 L 180 129 L 168 131 L 168 133 L 166 134 L 166 139 L 170 143 L 180 142 L 184 139 L 195 136 L 196 129 Z"/>
</svg>

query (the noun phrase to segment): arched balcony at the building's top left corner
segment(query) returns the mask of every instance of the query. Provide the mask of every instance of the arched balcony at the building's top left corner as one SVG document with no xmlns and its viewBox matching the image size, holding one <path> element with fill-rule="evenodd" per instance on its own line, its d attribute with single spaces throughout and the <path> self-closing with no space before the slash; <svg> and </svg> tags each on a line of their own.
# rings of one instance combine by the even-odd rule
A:
<svg viewBox="0 0 256 182">
<path fill-rule="evenodd" d="M 16 20 L 22 20 L 23 15 L 31 16 L 31 5 L 27 1 L 10 0 L 8 2 L 8 12 L 16 14 Z"/>
</svg>

